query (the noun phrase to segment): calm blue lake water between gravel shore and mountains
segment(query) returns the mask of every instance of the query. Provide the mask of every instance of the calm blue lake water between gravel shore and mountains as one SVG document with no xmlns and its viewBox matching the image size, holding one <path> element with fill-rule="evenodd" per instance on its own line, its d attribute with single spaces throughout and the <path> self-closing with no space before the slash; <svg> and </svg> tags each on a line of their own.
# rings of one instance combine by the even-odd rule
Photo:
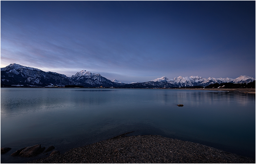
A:
<svg viewBox="0 0 256 164">
<path fill-rule="evenodd" d="M 12 148 L 1 155 L 1 163 L 35 159 L 10 156 L 22 147 L 53 145 L 64 153 L 131 131 L 135 132 L 130 135 L 162 135 L 255 159 L 255 94 L 1 88 L 1 147 Z"/>
</svg>

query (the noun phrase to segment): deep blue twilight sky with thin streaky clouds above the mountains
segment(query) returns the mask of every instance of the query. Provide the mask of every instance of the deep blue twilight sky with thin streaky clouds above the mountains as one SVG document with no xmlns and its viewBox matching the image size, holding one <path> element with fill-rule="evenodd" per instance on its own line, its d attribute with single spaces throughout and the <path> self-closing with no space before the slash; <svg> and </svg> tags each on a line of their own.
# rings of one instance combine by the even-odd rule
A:
<svg viewBox="0 0 256 164">
<path fill-rule="evenodd" d="M 1 1 L 1 68 L 255 77 L 255 1 Z"/>
</svg>

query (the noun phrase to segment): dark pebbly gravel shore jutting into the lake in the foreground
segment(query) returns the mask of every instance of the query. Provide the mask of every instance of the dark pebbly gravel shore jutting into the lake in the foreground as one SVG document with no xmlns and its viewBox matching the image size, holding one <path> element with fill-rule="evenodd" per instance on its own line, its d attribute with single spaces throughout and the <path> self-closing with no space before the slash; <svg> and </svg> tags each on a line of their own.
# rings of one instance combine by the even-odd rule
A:
<svg viewBox="0 0 256 164">
<path fill-rule="evenodd" d="M 120 135 L 29 163 L 255 163 L 255 160 L 158 135 Z"/>
</svg>

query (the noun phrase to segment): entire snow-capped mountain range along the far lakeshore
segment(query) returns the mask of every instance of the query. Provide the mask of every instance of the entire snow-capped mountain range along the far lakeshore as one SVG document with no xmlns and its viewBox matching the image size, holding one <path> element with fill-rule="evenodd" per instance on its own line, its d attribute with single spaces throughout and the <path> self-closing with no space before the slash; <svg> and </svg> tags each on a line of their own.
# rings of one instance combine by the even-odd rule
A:
<svg viewBox="0 0 256 164">
<path fill-rule="evenodd" d="M 201 76 L 175 77 L 169 79 L 167 77 L 157 78 L 149 82 L 133 82 L 122 83 L 118 80 L 110 81 L 100 74 L 91 73 L 81 70 L 71 77 L 66 75 L 45 72 L 37 68 L 22 66 L 19 64 L 10 64 L 1 68 L 1 86 L 65 86 L 79 85 L 84 87 L 118 87 L 118 88 L 172 88 L 184 86 L 208 86 L 214 83 L 249 83 L 255 78 L 249 76 L 239 76 L 238 78 L 202 78 Z"/>
</svg>

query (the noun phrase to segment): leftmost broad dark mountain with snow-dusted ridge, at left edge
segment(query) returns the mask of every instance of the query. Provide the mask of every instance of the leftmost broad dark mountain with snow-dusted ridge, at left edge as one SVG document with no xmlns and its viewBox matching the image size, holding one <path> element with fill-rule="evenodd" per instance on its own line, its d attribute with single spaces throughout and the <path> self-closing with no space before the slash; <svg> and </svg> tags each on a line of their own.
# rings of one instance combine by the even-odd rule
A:
<svg viewBox="0 0 256 164">
<path fill-rule="evenodd" d="M 10 64 L 1 68 L 1 84 L 30 86 L 65 86 L 76 85 L 66 75 L 55 72 L 45 72 L 37 68 L 25 67 L 20 64 Z"/>
</svg>

